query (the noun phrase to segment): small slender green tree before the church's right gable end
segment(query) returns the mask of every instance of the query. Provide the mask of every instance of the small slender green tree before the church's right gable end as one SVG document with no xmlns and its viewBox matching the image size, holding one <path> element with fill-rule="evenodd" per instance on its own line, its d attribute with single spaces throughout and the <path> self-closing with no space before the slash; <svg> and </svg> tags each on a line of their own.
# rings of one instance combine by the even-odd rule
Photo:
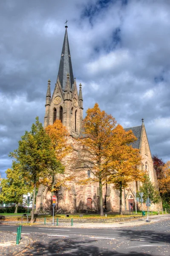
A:
<svg viewBox="0 0 170 256">
<path fill-rule="evenodd" d="M 147 200 L 147 198 L 150 198 L 151 203 L 157 204 L 161 201 L 161 197 L 159 195 L 158 190 L 153 185 L 152 181 L 150 180 L 149 175 L 144 175 L 144 181 L 142 185 L 139 187 L 139 190 L 137 192 L 137 196 L 140 197 L 139 192 L 143 192 L 143 199 L 144 202 Z"/>
</svg>

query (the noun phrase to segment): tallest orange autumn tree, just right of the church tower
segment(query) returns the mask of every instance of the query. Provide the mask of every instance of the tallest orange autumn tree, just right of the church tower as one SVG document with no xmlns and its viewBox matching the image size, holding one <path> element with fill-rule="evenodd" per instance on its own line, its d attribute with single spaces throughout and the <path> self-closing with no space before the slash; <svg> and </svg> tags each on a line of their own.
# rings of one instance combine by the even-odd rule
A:
<svg viewBox="0 0 170 256">
<path fill-rule="evenodd" d="M 107 148 L 115 128 L 115 118 L 101 111 L 98 104 L 86 111 L 83 122 L 82 137 L 79 139 L 79 155 L 77 159 L 77 175 L 82 169 L 91 172 L 91 181 L 99 184 L 100 214 L 103 216 L 103 192 L 102 187 L 106 183 L 108 174 Z M 82 177 L 82 182 L 89 179 Z"/>
</svg>

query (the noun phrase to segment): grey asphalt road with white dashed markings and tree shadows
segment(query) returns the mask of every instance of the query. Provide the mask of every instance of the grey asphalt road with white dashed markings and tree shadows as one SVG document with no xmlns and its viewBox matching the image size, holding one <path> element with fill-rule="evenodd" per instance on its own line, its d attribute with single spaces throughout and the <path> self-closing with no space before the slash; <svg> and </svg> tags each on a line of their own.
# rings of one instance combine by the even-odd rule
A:
<svg viewBox="0 0 170 256">
<path fill-rule="evenodd" d="M 16 226 L 0 225 L 3 230 L 16 232 Z M 170 256 L 169 217 L 138 227 L 22 227 L 22 236 L 33 241 L 23 256 Z"/>
</svg>

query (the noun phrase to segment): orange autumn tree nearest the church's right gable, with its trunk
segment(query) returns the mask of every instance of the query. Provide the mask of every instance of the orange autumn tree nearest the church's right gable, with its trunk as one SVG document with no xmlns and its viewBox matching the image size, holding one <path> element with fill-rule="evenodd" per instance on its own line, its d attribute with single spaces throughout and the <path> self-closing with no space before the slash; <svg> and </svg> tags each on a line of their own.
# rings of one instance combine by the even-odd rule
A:
<svg viewBox="0 0 170 256">
<path fill-rule="evenodd" d="M 119 214 L 122 215 L 122 189 L 129 186 L 133 180 L 142 180 L 144 173 L 140 170 L 141 156 L 137 148 L 131 143 L 136 139 L 133 132 L 125 131 L 121 125 L 117 125 L 112 131 L 109 143 L 107 159 L 109 175 L 108 183 L 114 184 L 114 188 L 120 193 Z"/>
</svg>

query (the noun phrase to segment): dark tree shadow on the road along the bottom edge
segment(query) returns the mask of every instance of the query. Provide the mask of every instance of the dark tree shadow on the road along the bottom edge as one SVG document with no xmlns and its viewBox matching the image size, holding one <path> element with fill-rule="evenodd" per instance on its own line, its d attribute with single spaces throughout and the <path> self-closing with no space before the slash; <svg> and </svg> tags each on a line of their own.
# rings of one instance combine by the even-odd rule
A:
<svg viewBox="0 0 170 256">
<path fill-rule="evenodd" d="M 116 250 L 108 250 L 94 246 L 96 240 L 77 241 L 77 239 L 50 239 L 50 241 L 35 241 L 32 247 L 23 252 L 22 256 L 154 256 L 153 254 L 119 253 Z M 93 243 L 93 244 L 92 244 Z M 114 248 L 114 244 L 112 245 Z M 125 248 L 124 248 L 125 249 Z"/>
</svg>

